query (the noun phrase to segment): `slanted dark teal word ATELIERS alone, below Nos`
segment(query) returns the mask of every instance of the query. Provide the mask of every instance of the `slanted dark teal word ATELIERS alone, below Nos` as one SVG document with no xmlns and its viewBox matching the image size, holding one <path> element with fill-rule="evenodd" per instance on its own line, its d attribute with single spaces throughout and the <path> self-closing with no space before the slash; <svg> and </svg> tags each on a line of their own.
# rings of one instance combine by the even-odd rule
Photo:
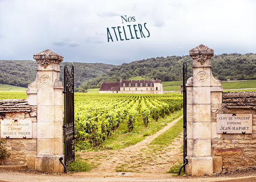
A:
<svg viewBox="0 0 256 182">
<path fill-rule="evenodd" d="M 140 39 L 140 36 L 141 38 L 146 38 L 147 34 L 149 37 L 150 36 L 150 31 L 148 31 L 148 29 L 146 28 L 146 24 L 147 23 L 144 23 L 144 26 L 138 24 L 137 25 L 133 25 L 133 27 L 131 27 L 131 25 L 127 25 L 127 27 L 125 26 L 122 26 L 121 27 L 111 27 L 112 29 L 111 30 L 111 33 L 113 35 L 113 33 L 115 34 L 116 36 L 116 40 L 118 41 L 118 35 L 120 37 L 120 40 L 130 40 L 130 39 L 134 39 L 136 37 L 136 39 Z M 113 42 L 113 37 L 111 36 L 111 33 L 110 33 L 110 30 L 109 28 L 106 28 L 107 29 L 107 34 L 108 34 L 108 42 L 109 42 L 109 39 L 112 40 Z M 144 31 L 144 32 L 143 32 Z"/>
</svg>

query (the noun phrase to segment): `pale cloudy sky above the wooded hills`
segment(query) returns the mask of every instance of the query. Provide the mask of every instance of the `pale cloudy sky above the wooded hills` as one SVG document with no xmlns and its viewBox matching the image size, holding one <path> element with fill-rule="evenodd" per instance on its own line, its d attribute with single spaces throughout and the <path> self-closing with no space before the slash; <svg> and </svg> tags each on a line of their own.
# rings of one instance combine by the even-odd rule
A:
<svg viewBox="0 0 256 182">
<path fill-rule="evenodd" d="M 256 53 L 256 0 L 0 0 L 2 60 L 51 49 L 68 62 L 120 65 L 200 44 Z"/>
</svg>

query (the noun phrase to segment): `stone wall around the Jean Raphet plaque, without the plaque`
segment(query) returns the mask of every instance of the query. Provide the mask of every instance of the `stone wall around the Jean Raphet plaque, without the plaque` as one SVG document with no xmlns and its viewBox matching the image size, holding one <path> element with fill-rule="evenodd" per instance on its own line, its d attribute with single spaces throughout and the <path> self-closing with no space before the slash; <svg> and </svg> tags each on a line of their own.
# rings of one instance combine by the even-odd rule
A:
<svg viewBox="0 0 256 182">
<path fill-rule="evenodd" d="M 223 92 L 222 104 L 212 106 L 213 172 L 256 165 L 256 92 Z M 252 114 L 252 134 L 216 134 L 216 113 Z"/>
</svg>

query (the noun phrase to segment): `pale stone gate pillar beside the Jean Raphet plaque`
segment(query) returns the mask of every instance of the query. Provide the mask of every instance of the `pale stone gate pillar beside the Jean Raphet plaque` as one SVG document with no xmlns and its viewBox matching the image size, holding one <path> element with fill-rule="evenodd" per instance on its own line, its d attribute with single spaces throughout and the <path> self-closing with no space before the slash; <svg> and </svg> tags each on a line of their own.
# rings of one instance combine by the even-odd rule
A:
<svg viewBox="0 0 256 182">
<path fill-rule="evenodd" d="M 189 54 L 193 58 L 193 77 L 190 77 L 186 84 L 188 133 L 186 173 L 205 175 L 213 173 L 211 135 L 214 131 L 211 130 L 211 104 L 212 101 L 216 101 L 215 94 L 211 92 L 220 92 L 221 95 L 223 88 L 221 81 L 215 79 L 211 73 L 213 49 L 201 44 L 191 49 Z"/>
</svg>

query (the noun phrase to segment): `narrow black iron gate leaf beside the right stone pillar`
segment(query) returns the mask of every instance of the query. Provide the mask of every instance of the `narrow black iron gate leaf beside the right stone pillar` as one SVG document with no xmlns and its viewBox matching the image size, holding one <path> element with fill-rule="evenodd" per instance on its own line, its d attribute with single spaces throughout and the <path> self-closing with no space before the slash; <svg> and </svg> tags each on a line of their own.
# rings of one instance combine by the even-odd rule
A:
<svg viewBox="0 0 256 182">
<path fill-rule="evenodd" d="M 183 63 L 183 165 L 179 169 L 179 175 L 181 169 L 186 169 L 186 164 L 188 164 L 187 157 L 187 63 Z"/>
</svg>

